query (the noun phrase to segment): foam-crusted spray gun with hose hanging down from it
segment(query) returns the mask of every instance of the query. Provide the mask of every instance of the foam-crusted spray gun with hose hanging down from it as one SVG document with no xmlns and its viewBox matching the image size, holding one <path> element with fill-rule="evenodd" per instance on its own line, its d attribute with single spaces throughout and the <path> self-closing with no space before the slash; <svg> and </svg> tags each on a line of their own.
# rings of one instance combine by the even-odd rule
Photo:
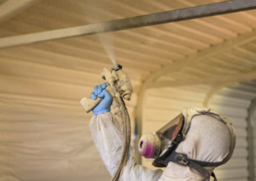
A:
<svg viewBox="0 0 256 181">
<path fill-rule="evenodd" d="M 127 161 L 131 141 L 131 122 L 123 98 L 128 101 L 131 99 L 132 85 L 127 73 L 122 70 L 122 66 L 120 64 L 114 64 L 110 69 L 104 68 L 100 75 L 104 80 L 106 80 L 106 90 L 113 97 L 112 106 L 115 110 L 115 115 L 120 124 L 122 132 L 122 141 L 124 145 L 122 150 L 122 159 L 120 160 L 120 163 L 118 164 L 112 178 L 112 180 L 118 180 L 120 173 L 122 172 Z M 91 98 L 82 98 L 80 103 L 84 110 L 88 113 L 92 111 L 101 100 L 102 98 L 99 97 L 97 97 L 95 100 Z"/>
</svg>

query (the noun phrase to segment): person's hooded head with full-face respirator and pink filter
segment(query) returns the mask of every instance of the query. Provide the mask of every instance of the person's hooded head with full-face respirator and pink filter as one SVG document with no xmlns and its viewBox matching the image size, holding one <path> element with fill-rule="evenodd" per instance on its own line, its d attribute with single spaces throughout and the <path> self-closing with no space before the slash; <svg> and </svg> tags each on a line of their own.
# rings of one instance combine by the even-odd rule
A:
<svg viewBox="0 0 256 181">
<path fill-rule="evenodd" d="M 209 179 L 216 166 L 230 159 L 235 143 L 234 129 L 227 117 L 209 108 L 184 108 L 159 131 L 142 136 L 139 150 L 142 156 L 154 158 L 154 166 L 188 166 Z"/>
</svg>

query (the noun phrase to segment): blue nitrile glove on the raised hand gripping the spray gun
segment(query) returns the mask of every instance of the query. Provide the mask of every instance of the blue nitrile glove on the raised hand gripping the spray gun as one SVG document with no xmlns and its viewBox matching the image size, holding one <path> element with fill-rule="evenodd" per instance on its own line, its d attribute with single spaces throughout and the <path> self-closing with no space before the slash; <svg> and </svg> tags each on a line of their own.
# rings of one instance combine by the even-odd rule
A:
<svg viewBox="0 0 256 181">
<path fill-rule="evenodd" d="M 94 87 L 94 92 L 91 93 L 91 98 L 92 99 L 97 99 L 97 96 L 99 98 L 103 98 L 99 105 L 97 105 L 92 111 L 93 115 L 97 115 L 99 113 L 104 113 L 104 112 L 110 112 L 110 106 L 112 104 L 113 98 L 109 94 L 108 91 L 106 91 L 107 83 L 102 83 L 101 85 L 96 85 Z"/>
</svg>

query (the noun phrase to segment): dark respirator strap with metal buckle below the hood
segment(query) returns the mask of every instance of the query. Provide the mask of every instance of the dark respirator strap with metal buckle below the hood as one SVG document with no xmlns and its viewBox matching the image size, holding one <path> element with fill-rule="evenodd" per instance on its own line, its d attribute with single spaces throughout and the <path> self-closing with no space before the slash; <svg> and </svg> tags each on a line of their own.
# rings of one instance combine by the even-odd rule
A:
<svg viewBox="0 0 256 181">
<path fill-rule="evenodd" d="M 172 154 L 170 154 L 170 156 L 168 157 L 168 161 L 172 161 L 173 163 L 177 163 L 182 166 L 189 166 L 190 168 L 193 168 L 194 170 L 198 171 L 198 173 L 204 175 L 204 181 L 210 180 L 209 172 L 203 166 L 196 163 L 196 161 L 188 159 L 188 156 L 186 156 L 186 154 L 179 154 L 173 151 Z M 212 177 L 214 177 L 214 181 L 217 181 L 217 178 L 215 177 L 214 173 L 212 173 Z"/>
</svg>

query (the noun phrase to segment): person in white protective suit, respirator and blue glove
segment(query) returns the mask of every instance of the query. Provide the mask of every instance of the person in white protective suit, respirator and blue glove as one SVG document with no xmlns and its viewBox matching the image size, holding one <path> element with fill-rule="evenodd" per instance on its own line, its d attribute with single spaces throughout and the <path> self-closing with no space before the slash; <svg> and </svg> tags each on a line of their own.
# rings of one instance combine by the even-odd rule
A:
<svg viewBox="0 0 256 181">
<path fill-rule="evenodd" d="M 122 137 L 115 115 L 110 112 L 112 98 L 106 84 L 96 86 L 92 99 L 103 98 L 93 109 L 90 129 L 99 154 L 113 177 L 122 156 Z M 184 108 L 182 113 L 155 133 L 141 137 L 141 156 L 154 158 L 150 170 L 136 163 L 130 147 L 121 180 L 210 180 L 216 166 L 230 159 L 236 138 L 230 120 L 208 108 Z"/>
</svg>

